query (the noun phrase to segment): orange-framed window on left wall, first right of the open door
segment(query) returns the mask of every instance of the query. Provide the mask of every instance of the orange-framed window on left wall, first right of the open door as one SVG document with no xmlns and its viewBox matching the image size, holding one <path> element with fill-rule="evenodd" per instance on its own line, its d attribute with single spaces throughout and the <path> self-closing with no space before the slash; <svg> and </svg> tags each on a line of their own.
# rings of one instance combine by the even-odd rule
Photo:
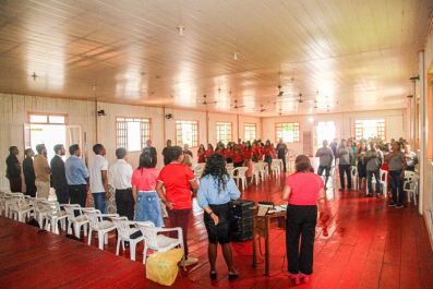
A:
<svg viewBox="0 0 433 289">
<path fill-rule="evenodd" d="M 140 118 L 116 119 L 117 147 L 124 147 L 128 152 L 140 152 L 151 139 L 151 120 Z"/>
</svg>

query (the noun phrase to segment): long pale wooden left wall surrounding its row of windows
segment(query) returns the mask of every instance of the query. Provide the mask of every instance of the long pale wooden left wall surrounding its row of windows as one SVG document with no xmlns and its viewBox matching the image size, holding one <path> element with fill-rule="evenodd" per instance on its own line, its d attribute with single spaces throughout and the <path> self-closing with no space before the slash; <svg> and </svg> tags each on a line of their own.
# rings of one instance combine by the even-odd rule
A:
<svg viewBox="0 0 433 289">
<path fill-rule="evenodd" d="M 96 110 L 104 109 L 106 116 L 96 117 Z M 2 112 L 2 113 L 1 113 Z M 243 139 L 243 123 L 256 123 L 257 137 L 261 136 L 261 119 L 254 117 L 241 117 L 226 113 L 207 113 L 196 110 L 164 109 L 157 107 L 131 106 L 108 103 L 95 103 L 85 100 L 69 100 L 37 96 L 22 96 L 0 94 L 0 189 L 9 188 L 5 179 L 5 158 L 9 146 L 16 145 L 20 148 L 19 158 L 23 159 L 24 152 L 24 123 L 27 122 L 28 112 L 67 113 L 69 124 L 81 125 L 83 134 L 87 134 L 87 153 L 93 157 L 92 146 L 101 143 L 107 150 L 107 159 L 111 162 L 116 159 L 116 118 L 135 117 L 151 119 L 151 139 L 158 150 L 158 166 L 161 164 L 160 152 L 166 140 L 176 141 L 176 120 L 199 121 L 199 144 L 216 143 L 216 122 L 229 121 L 233 124 L 233 141 L 239 134 Z M 166 119 L 165 115 L 172 113 L 172 119 Z M 239 119 L 239 123 L 238 123 Z M 207 132 L 208 130 L 208 132 Z M 208 140 L 207 140 L 208 137 Z M 193 148 L 194 156 L 196 149 Z M 139 165 L 140 152 L 130 153 L 130 162 L 133 167 Z"/>
</svg>

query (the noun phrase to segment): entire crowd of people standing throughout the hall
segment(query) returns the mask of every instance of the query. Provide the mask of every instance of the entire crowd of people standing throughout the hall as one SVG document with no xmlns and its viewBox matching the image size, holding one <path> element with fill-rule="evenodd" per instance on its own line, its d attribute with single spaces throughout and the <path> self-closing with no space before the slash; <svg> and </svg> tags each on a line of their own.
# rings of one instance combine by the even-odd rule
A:
<svg viewBox="0 0 433 289">
<path fill-rule="evenodd" d="M 69 147 L 70 157 L 63 161 L 65 148 L 59 144 L 53 147 L 56 156 L 48 162 L 47 149 L 44 144 L 36 146 L 37 155 L 32 148 L 25 149 L 23 165 L 17 158 L 16 146 L 10 147 L 7 158 L 7 178 L 12 192 L 22 192 L 21 169 L 23 170 L 26 194 L 38 198 L 48 198 L 50 188 L 56 191 L 60 204 L 79 204 L 86 206 L 88 193 L 92 193 L 95 208 L 106 212 L 106 201 L 110 197 L 109 185 L 115 191 L 117 213 L 130 220 L 152 221 L 156 227 L 164 227 L 163 207 L 167 208 L 170 227 L 181 227 L 184 240 L 185 265 L 197 263 L 197 258 L 189 255 L 188 228 L 192 210 L 192 198 L 197 197 L 199 205 L 204 209 L 204 224 L 208 233 L 209 277 L 217 278 L 217 245 L 220 244 L 228 267 L 229 279 L 238 277 L 230 246 L 230 202 L 240 197 L 240 192 L 227 172 L 226 164 L 233 167 L 249 167 L 253 162 L 265 161 L 269 165 L 275 158 L 282 160 L 287 171 L 287 145 L 279 141 L 274 146 L 269 141 L 262 143 L 239 142 L 212 144 L 207 148 L 199 146 L 197 162 L 206 162 L 200 181 L 191 166 L 193 153 L 188 145 L 172 146 L 167 141 L 163 149 L 164 167 L 156 169 L 157 150 L 147 141 L 140 155 L 136 169 L 128 162 L 128 152 L 116 149 L 117 160 L 108 165 L 106 149 L 95 144 L 88 168 L 81 158 L 81 148 L 74 144 Z M 324 198 L 328 178 L 333 167 L 338 166 L 340 191 L 352 189 L 352 171 L 365 186 L 366 195 L 380 196 L 381 170 L 389 172 L 393 198 L 389 206 L 402 207 L 402 178 L 405 170 L 414 170 L 417 155 L 404 140 L 384 144 L 377 140 L 353 139 L 334 140 L 328 146 L 327 141 L 317 149 L 320 164 L 314 173 L 310 158 L 299 155 L 296 158 L 294 173 L 287 177 L 282 190 L 282 200 L 288 202 L 286 246 L 288 272 L 300 282 L 309 280 L 313 272 L 314 229 L 317 219 L 317 201 Z M 321 176 L 325 173 L 325 180 Z M 375 178 L 375 190 L 372 179 Z M 366 180 L 366 185 L 364 184 Z"/>
</svg>

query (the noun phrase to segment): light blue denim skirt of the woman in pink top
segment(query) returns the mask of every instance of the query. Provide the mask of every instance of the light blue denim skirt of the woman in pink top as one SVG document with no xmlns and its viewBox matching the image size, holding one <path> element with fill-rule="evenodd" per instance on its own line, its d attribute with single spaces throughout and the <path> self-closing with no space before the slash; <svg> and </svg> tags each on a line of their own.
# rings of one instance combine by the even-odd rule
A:
<svg viewBox="0 0 433 289">
<path fill-rule="evenodd" d="M 155 227 L 164 227 L 160 201 L 157 192 L 139 192 L 136 197 L 135 220 L 149 220 Z"/>
</svg>

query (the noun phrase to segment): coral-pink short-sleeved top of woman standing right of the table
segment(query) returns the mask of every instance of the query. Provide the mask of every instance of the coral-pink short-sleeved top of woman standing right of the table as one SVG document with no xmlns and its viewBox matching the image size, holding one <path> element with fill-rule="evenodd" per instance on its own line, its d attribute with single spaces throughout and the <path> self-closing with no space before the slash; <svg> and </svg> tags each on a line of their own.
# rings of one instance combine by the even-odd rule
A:
<svg viewBox="0 0 433 289">
<path fill-rule="evenodd" d="M 296 172 L 286 179 L 286 185 L 291 188 L 288 203 L 291 205 L 315 205 L 323 188 L 322 178 L 313 172 Z"/>
</svg>

